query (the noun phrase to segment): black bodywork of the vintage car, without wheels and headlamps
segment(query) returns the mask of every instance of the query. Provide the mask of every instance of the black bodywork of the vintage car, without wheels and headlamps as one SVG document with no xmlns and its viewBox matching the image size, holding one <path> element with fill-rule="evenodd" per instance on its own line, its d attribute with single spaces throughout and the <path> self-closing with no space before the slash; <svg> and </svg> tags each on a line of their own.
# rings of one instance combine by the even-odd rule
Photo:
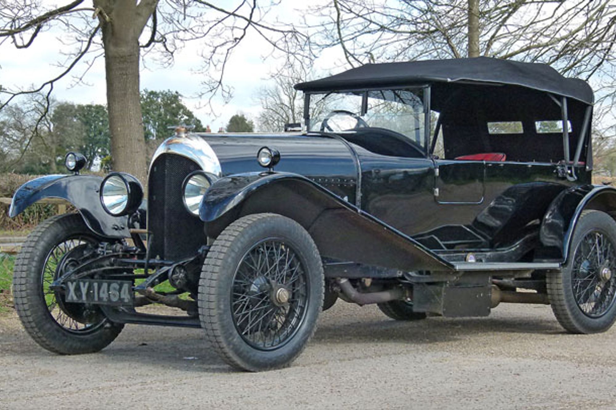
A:
<svg viewBox="0 0 616 410">
<path fill-rule="evenodd" d="M 366 73 L 383 71 L 383 66 L 376 65 L 333 77 L 334 82 L 344 80 L 338 84 L 360 87 L 346 91 L 363 95 L 362 114 L 367 112 L 368 88 L 422 86 L 425 132 L 421 135 L 422 127 L 416 127 L 415 137 L 423 146 L 365 122 L 351 132 L 337 133 L 193 134 L 169 139 L 157 151 L 148 181 L 147 213 L 143 206 L 138 214 L 108 215 L 99 201 L 100 177 L 50 175 L 26 183 L 15 193 L 10 216 L 51 196 L 73 203 L 95 233 L 111 239 L 129 236 L 128 220 L 134 221 L 131 227 L 143 228 L 147 219 L 147 249 L 133 231 L 138 247 L 101 256 L 113 266 L 105 267 L 109 274 L 102 269 L 97 273 L 114 277 L 116 267 L 143 268 L 146 281 L 135 290 L 144 292 L 179 267 L 177 272 L 190 276 L 184 278 L 190 285 L 177 284 L 178 292 L 195 297 L 209 250 L 206 245 L 244 215 L 273 212 L 306 228 L 323 257 L 328 278 L 369 277 L 394 287 L 413 284 L 413 302 L 420 312 L 487 315 L 495 271 L 506 278 L 561 267 L 582 212 L 599 209 L 614 215 L 616 190 L 590 185 L 592 92 L 587 84 L 561 82 L 555 71 L 538 65 L 529 66 L 523 76 L 526 82 L 513 81 L 511 72 L 477 73 L 473 67 L 481 61 L 464 60 L 464 70 L 472 68 L 472 76 L 453 81 L 438 73 L 431 74 L 439 78 L 410 78 L 415 74 L 407 71 L 403 79 L 396 79 L 387 70 L 381 78 L 364 81 Z M 459 63 L 437 65 L 460 73 Z M 499 60 L 488 64 L 516 70 L 526 66 Z M 354 73 L 361 78 L 354 78 Z M 498 84 L 477 83 L 481 76 Z M 505 77 L 499 80 L 499 76 Z M 309 90 L 306 101 L 310 84 L 317 86 L 315 91 L 328 82 L 304 84 Z M 568 101 L 563 95 L 573 98 Z M 428 121 L 431 109 L 439 113 L 437 124 Z M 304 112 L 309 123 L 310 110 Z M 559 119 L 564 124 L 569 120 L 572 132 L 540 135 L 536 121 Z M 488 129 L 493 121 L 519 121 L 524 131 L 495 135 Z M 433 155 L 437 144 L 430 143 L 431 125 L 435 137 L 442 135 L 445 158 Z M 534 144 L 538 147 L 532 148 Z M 261 147 L 280 153 L 274 171 L 264 171 L 257 164 Z M 506 153 L 507 161 L 456 159 L 491 152 Z M 185 209 L 182 200 L 185 178 L 197 170 L 208 173 L 213 182 L 198 217 Z M 98 251 L 105 253 L 105 249 L 101 246 Z M 471 254 L 476 262 L 469 262 Z M 153 270 L 151 275 L 148 268 Z M 65 275 L 87 276 L 91 271 L 76 269 Z M 118 323 L 199 326 L 192 316 L 102 309 Z"/>
</svg>

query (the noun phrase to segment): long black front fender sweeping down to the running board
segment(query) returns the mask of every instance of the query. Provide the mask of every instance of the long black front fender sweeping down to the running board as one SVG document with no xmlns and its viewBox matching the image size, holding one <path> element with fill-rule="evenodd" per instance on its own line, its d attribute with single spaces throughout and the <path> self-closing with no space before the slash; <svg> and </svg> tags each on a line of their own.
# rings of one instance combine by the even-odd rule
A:
<svg viewBox="0 0 616 410">
<path fill-rule="evenodd" d="M 404 271 L 448 271 L 453 265 L 386 223 L 298 174 L 253 172 L 224 177 L 209 188 L 200 218 L 215 238 L 244 215 L 272 212 L 298 222 L 320 254 Z"/>
</svg>

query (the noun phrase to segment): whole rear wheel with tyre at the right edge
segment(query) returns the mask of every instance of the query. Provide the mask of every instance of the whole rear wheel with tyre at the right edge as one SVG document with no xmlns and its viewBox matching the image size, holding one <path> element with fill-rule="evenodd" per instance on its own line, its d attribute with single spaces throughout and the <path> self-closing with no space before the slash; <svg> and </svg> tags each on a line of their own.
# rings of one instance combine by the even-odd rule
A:
<svg viewBox="0 0 616 410">
<path fill-rule="evenodd" d="M 601 211 L 584 211 L 569 262 L 546 276 L 554 316 L 570 333 L 598 333 L 616 320 L 616 222 Z"/>
</svg>

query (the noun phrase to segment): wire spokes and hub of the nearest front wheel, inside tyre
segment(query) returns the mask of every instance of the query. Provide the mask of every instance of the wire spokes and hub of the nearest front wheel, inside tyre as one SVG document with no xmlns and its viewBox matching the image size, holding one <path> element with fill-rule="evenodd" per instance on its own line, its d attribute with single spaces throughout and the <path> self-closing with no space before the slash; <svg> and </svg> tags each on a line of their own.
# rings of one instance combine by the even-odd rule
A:
<svg viewBox="0 0 616 410">
<path fill-rule="evenodd" d="M 306 272 L 296 252 L 282 239 L 265 239 L 246 252 L 232 289 L 233 323 L 254 348 L 280 347 L 304 318 Z"/>
</svg>

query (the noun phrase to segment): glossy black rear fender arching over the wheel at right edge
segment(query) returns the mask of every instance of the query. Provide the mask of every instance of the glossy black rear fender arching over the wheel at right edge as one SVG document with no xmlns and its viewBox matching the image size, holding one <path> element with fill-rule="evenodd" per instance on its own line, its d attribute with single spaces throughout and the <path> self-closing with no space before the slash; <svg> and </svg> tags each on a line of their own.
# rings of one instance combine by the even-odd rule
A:
<svg viewBox="0 0 616 410">
<path fill-rule="evenodd" d="M 573 230 L 586 209 L 604 211 L 614 217 L 616 189 L 605 185 L 582 185 L 557 195 L 541 222 L 540 240 L 545 247 L 544 259 L 567 262 Z"/>
</svg>

